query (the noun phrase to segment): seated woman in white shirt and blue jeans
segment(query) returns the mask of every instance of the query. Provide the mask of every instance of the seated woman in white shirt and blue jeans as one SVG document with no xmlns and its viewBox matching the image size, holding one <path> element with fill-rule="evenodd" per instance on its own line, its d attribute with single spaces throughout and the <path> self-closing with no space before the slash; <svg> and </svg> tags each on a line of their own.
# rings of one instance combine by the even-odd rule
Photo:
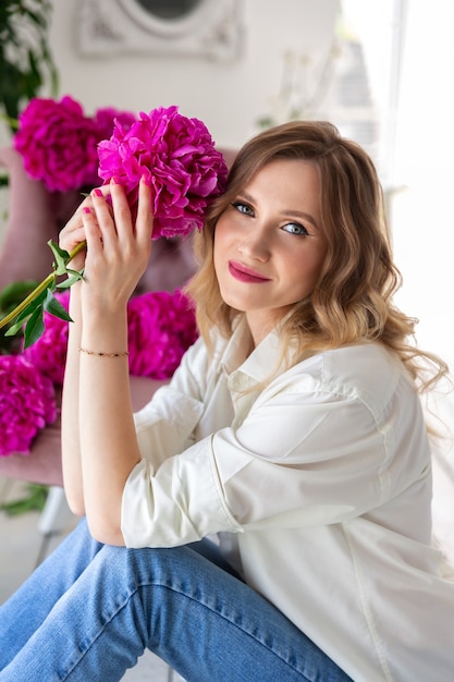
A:
<svg viewBox="0 0 454 682">
<path fill-rule="evenodd" d="M 371 161 L 328 123 L 243 147 L 196 235 L 200 339 L 133 417 L 125 309 L 149 200 L 142 183 L 132 224 L 112 183 L 61 235 L 87 240 L 63 467 L 89 531 L 0 610 L 0 681 L 119 680 L 146 647 L 197 682 L 447 681 L 454 587 L 418 397 L 446 368 L 393 306 Z"/>
</svg>

